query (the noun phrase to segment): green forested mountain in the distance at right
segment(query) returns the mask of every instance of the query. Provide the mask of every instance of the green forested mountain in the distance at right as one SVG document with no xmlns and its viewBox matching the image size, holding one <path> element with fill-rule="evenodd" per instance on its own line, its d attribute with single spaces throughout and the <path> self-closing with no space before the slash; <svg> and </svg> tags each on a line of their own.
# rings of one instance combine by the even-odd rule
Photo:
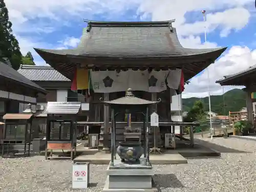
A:
<svg viewBox="0 0 256 192">
<path fill-rule="evenodd" d="M 202 100 L 205 106 L 205 111 L 209 110 L 208 97 L 197 98 L 191 97 L 182 99 L 183 111 L 189 111 L 197 100 Z M 211 111 L 218 115 L 228 115 L 228 112 L 237 112 L 246 106 L 246 93 L 240 89 L 230 90 L 223 95 L 210 96 Z"/>
</svg>

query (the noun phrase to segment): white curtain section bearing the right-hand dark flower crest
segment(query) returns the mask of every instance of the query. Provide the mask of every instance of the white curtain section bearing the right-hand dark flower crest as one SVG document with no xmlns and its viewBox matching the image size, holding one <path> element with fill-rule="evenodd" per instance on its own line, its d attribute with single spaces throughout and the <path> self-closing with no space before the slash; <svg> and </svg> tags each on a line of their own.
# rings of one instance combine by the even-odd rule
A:
<svg viewBox="0 0 256 192">
<path fill-rule="evenodd" d="M 152 70 L 148 75 L 148 92 L 159 93 L 166 90 L 165 79 L 169 71 L 155 71 Z"/>
</svg>

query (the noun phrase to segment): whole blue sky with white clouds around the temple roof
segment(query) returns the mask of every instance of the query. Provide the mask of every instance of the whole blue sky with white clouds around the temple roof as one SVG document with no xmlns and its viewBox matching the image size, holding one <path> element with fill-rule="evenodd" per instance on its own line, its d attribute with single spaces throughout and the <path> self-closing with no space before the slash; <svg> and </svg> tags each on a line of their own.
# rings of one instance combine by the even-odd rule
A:
<svg viewBox="0 0 256 192">
<path fill-rule="evenodd" d="M 23 54 L 31 51 L 37 65 L 46 65 L 33 47 L 75 48 L 83 19 L 111 21 L 176 19 L 174 27 L 183 47 L 228 47 L 222 57 L 191 79 L 183 97 L 222 94 L 215 83 L 223 75 L 256 64 L 256 10 L 254 0 L 5 0 Z M 202 10 L 206 10 L 206 23 Z M 204 26 L 207 42 L 204 42 Z M 225 87 L 225 91 L 236 87 Z M 239 87 L 238 87 L 239 88 Z"/>
</svg>

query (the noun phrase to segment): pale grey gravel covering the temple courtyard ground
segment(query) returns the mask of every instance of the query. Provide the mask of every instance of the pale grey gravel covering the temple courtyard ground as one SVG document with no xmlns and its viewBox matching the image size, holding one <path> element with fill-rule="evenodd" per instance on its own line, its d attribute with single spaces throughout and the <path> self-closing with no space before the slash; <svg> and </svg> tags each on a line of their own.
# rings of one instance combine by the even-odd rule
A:
<svg viewBox="0 0 256 192">
<path fill-rule="evenodd" d="M 154 180 L 159 191 L 256 191 L 256 141 L 237 138 L 204 141 L 224 146 L 212 147 L 217 148 L 222 157 L 189 159 L 188 164 L 180 165 L 155 165 Z M 68 160 L 46 161 L 42 156 L 0 159 L 0 191 L 99 192 L 106 179 L 106 167 L 91 165 L 92 187 L 72 190 L 72 166 Z"/>
</svg>

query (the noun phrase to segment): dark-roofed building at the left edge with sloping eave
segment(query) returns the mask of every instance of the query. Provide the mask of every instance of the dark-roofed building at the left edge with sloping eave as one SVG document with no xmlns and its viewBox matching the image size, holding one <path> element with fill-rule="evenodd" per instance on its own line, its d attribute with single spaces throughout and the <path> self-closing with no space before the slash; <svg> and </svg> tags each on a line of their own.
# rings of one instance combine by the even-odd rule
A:
<svg viewBox="0 0 256 192">
<path fill-rule="evenodd" d="M 25 109 L 20 106 L 28 103 L 35 106 L 37 98 L 44 97 L 48 93 L 47 90 L 14 70 L 8 61 L 1 60 L 0 69 L 0 121 L 3 120 L 6 113 L 22 113 Z M 0 125 L 0 140 L 6 137 L 15 137 L 15 134 L 13 135 L 16 133 L 15 129 L 15 126 L 6 126 L 4 135 L 4 125 Z"/>
</svg>

